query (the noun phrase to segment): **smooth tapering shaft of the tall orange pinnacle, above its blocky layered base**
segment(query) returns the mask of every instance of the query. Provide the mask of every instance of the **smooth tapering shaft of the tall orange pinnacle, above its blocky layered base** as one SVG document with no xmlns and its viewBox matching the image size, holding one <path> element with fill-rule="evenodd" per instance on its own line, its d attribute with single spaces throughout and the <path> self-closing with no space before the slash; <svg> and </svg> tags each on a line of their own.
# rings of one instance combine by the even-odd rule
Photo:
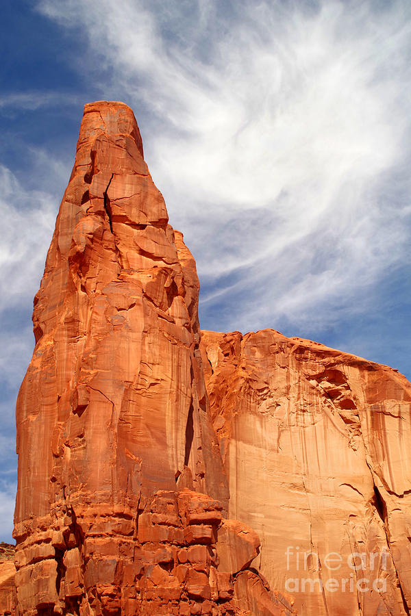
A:
<svg viewBox="0 0 411 616">
<path fill-rule="evenodd" d="M 227 504 L 220 457 L 210 465 L 202 450 L 212 433 L 197 305 L 186 303 L 164 200 L 122 103 L 85 107 L 34 305 L 17 522 L 67 498 L 136 507 L 176 481 Z M 51 447 L 39 452 L 40 435 Z"/>
</svg>

